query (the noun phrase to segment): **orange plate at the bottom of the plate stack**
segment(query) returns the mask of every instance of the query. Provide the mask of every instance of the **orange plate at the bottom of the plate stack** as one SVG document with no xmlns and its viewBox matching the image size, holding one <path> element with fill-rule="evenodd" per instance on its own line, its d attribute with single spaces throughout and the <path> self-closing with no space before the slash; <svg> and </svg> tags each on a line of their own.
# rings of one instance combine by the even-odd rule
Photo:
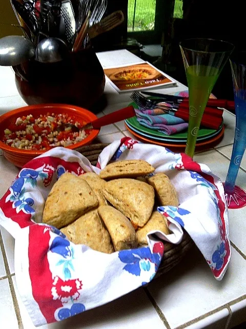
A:
<svg viewBox="0 0 246 329">
<path fill-rule="evenodd" d="M 139 138 L 141 141 L 145 141 L 145 142 L 148 142 L 148 143 L 151 143 L 151 144 L 160 145 L 160 146 L 163 146 L 163 147 L 166 147 L 166 148 L 169 148 L 169 149 L 185 149 L 186 148 L 186 143 L 183 143 L 183 144 L 181 144 L 181 143 L 164 143 L 164 142 L 162 143 L 162 142 L 153 140 L 151 138 L 148 138 L 146 136 L 141 136 L 141 135 L 137 134 L 136 132 L 131 130 L 131 128 L 129 128 L 126 123 L 125 123 L 125 126 L 127 127 L 127 129 L 129 130 L 129 132 L 132 135 Z M 215 142 L 218 142 L 220 140 L 220 138 L 223 136 L 223 134 L 224 134 L 224 126 L 222 127 L 221 132 L 218 135 L 214 136 L 211 139 L 207 139 L 206 141 L 196 143 L 196 149 L 200 148 L 200 147 L 208 146 L 208 145 L 211 146 L 211 144 L 213 144 Z"/>
</svg>

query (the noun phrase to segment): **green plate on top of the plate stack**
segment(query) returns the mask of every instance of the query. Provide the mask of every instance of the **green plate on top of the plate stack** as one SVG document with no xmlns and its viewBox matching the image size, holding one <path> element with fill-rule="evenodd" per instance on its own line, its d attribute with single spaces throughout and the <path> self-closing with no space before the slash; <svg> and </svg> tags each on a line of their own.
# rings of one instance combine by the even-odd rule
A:
<svg viewBox="0 0 246 329">
<path fill-rule="evenodd" d="M 129 105 L 132 105 L 134 108 L 138 109 L 138 106 L 135 102 L 132 102 Z M 150 135 L 153 135 L 153 136 L 165 137 L 167 139 L 169 139 L 169 138 L 170 139 L 177 139 L 177 140 L 187 139 L 187 135 L 188 135 L 187 131 L 177 133 L 177 134 L 173 134 L 173 135 L 166 135 L 166 134 L 160 133 L 156 130 L 149 129 L 145 126 L 140 125 L 139 122 L 137 121 L 136 116 L 132 117 L 132 118 L 129 118 L 129 119 L 126 119 L 126 122 L 129 123 L 131 126 L 133 126 L 135 129 L 137 129 L 140 132 L 147 133 L 147 134 L 150 134 Z M 222 122 L 221 126 L 222 125 L 223 125 L 223 122 Z M 221 129 L 221 126 L 219 127 L 219 129 Z M 208 129 L 208 128 L 200 127 L 197 137 L 208 137 L 209 138 L 214 133 L 216 133 L 215 129 Z"/>
</svg>

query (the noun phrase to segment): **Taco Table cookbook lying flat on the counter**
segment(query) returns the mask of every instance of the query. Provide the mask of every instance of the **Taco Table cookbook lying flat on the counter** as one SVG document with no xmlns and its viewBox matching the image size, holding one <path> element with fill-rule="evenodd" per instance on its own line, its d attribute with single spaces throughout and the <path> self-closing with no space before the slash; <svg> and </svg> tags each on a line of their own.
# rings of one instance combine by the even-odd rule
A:
<svg viewBox="0 0 246 329">
<path fill-rule="evenodd" d="M 109 83 L 118 93 L 176 85 L 175 80 L 167 77 L 165 73 L 149 62 L 105 68 L 104 72 Z"/>
</svg>

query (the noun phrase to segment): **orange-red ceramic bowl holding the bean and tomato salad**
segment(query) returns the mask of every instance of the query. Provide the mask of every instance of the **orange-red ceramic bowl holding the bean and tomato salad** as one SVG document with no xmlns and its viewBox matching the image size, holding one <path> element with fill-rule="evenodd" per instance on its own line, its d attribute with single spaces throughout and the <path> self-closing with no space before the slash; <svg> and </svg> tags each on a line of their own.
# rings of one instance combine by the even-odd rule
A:
<svg viewBox="0 0 246 329">
<path fill-rule="evenodd" d="M 16 167 L 23 167 L 25 163 L 35 158 L 36 156 L 45 153 L 46 151 L 21 150 L 10 147 L 2 141 L 4 137 L 4 130 L 9 127 L 10 123 L 15 123 L 18 117 L 32 114 L 32 116 L 36 119 L 40 116 L 40 114 L 44 115 L 48 112 L 55 114 L 67 113 L 71 116 L 74 116 L 76 121 L 90 122 L 97 119 L 95 114 L 88 111 L 87 109 L 67 104 L 29 105 L 14 109 L 13 111 L 3 114 L 2 116 L 0 116 L 0 149 L 3 150 L 5 158 L 12 162 Z M 92 129 L 88 137 L 86 137 L 81 142 L 69 145 L 67 148 L 71 150 L 76 150 L 81 146 L 90 144 L 93 139 L 96 138 L 98 133 L 99 129 Z"/>
</svg>

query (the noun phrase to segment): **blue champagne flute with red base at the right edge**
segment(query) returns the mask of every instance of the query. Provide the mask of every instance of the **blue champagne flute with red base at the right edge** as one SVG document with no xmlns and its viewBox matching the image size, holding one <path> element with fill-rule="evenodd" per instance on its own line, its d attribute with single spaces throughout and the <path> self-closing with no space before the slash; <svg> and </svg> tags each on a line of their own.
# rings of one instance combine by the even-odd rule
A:
<svg viewBox="0 0 246 329">
<path fill-rule="evenodd" d="M 236 127 L 232 156 L 224 183 L 228 208 L 237 209 L 246 205 L 246 192 L 236 186 L 236 178 L 246 148 L 246 52 L 238 52 L 230 58 L 232 69 Z"/>
</svg>

